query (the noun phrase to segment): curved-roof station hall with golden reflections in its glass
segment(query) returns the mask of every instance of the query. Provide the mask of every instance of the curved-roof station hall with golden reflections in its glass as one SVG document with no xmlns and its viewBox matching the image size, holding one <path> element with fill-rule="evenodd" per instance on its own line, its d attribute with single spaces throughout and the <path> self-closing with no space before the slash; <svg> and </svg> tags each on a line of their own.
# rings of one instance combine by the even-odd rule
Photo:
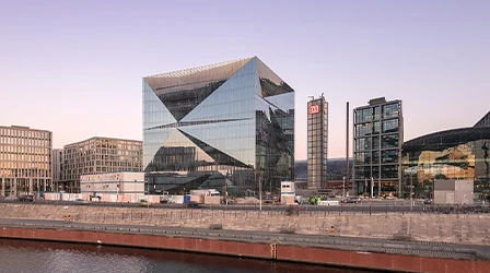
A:
<svg viewBox="0 0 490 273">
<path fill-rule="evenodd" d="M 490 194 L 490 127 L 448 130 L 404 144 L 404 195 L 432 198 L 434 179 L 474 180 L 477 194 Z"/>
</svg>

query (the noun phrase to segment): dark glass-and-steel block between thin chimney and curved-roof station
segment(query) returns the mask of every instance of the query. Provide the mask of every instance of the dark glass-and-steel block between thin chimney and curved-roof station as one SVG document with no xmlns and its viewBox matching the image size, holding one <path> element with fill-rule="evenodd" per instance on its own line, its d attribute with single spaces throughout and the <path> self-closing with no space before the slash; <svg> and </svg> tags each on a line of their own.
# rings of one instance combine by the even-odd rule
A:
<svg viewBox="0 0 490 273">
<path fill-rule="evenodd" d="M 401 192 L 401 144 L 404 116 L 401 100 L 374 98 L 353 110 L 354 192 L 374 195 Z M 381 192 L 378 186 L 381 183 Z M 374 186 L 373 185 L 373 186 Z"/>
</svg>

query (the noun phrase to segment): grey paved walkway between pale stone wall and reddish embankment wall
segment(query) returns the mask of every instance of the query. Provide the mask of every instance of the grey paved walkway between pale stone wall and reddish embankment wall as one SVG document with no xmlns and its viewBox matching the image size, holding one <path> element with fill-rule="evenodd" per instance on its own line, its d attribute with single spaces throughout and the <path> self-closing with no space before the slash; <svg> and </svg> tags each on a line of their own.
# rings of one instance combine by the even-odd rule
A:
<svg viewBox="0 0 490 273">
<path fill-rule="evenodd" d="M 420 242 L 406 240 L 384 240 L 339 236 L 296 235 L 265 232 L 238 232 L 223 229 L 190 229 L 161 226 L 114 225 L 75 223 L 66 221 L 1 218 L 0 226 L 57 228 L 75 230 L 100 230 L 105 233 L 138 233 L 162 236 L 180 236 L 201 239 L 252 241 L 259 244 L 282 244 L 315 248 L 329 248 L 360 252 L 381 252 L 436 258 L 469 259 L 490 261 L 490 247 L 456 245 L 445 242 Z M 219 228 L 219 227 L 218 227 Z"/>
</svg>

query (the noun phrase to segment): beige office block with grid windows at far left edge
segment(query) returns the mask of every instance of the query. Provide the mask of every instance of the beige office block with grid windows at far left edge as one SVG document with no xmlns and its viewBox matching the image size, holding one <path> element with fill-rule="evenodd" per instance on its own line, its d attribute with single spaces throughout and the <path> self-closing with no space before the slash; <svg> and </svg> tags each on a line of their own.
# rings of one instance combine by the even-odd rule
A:
<svg viewBox="0 0 490 273">
<path fill-rule="evenodd" d="M 50 131 L 0 127 L 1 195 L 51 191 L 51 149 Z"/>
</svg>

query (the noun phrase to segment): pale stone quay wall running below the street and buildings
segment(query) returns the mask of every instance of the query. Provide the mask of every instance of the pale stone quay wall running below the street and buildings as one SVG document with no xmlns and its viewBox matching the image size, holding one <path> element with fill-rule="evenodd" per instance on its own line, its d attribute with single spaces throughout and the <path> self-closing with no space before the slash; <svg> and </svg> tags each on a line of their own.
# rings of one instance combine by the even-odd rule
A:
<svg viewBox="0 0 490 273">
<path fill-rule="evenodd" d="M 339 214 L 284 211 L 0 204 L 2 218 L 295 233 L 490 246 L 489 214 Z"/>
</svg>

